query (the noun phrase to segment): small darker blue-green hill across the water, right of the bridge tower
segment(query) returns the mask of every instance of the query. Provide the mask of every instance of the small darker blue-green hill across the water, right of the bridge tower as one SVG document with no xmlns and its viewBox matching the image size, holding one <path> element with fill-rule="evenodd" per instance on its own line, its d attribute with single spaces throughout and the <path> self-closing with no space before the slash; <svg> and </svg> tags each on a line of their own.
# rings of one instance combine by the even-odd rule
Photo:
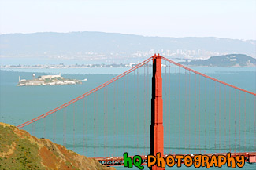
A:
<svg viewBox="0 0 256 170">
<path fill-rule="evenodd" d="M 244 54 L 229 54 L 224 56 L 212 56 L 208 60 L 193 60 L 180 62 L 189 66 L 208 67 L 256 67 L 256 59 Z"/>
</svg>

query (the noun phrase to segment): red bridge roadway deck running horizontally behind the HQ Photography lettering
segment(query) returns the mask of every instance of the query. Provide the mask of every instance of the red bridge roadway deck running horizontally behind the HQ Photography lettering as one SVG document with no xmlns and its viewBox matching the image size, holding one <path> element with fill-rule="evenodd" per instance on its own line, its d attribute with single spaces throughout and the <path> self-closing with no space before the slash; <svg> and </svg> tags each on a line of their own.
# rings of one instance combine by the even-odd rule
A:
<svg viewBox="0 0 256 170">
<path fill-rule="evenodd" d="M 175 154 L 172 154 L 172 155 L 173 155 L 173 157 L 175 157 Z M 182 155 L 182 154 L 178 154 L 178 155 Z M 184 154 L 184 156 L 186 156 L 186 155 L 191 155 L 191 157 L 194 157 L 195 155 L 198 155 L 198 154 Z M 212 155 L 227 156 L 227 153 L 221 153 L 221 154 L 213 153 L 213 154 L 202 154 L 202 155 L 207 155 L 211 158 Z M 143 160 L 142 165 L 147 165 L 147 156 L 146 155 L 139 155 L 139 156 L 142 157 L 142 160 Z M 166 158 L 167 156 L 169 156 L 169 155 L 165 154 L 163 157 Z M 244 156 L 245 161 L 247 163 L 256 163 L 256 152 L 231 153 L 231 157 L 236 157 L 236 156 Z M 92 158 L 96 159 L 102 165 L 107 165 L 107 166 L 123 166 L 124 165 L 124 157 L 92 157 Z M 132 156 L 131 156 L 131 158 L 133 159 Z M 177 163 L 177 161 L 176 161 L 176 163 Z M 181 160 L 181 163 L 184 163 L 184 160 Z"/>
</svg>

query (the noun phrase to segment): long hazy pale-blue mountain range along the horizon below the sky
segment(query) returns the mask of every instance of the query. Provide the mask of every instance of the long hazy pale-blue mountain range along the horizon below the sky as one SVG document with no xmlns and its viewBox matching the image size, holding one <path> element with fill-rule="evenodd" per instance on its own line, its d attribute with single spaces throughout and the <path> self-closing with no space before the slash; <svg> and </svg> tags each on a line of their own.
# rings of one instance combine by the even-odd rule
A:
<svg viewBox="0 0 256 170">
<path fill-rule="evenodd" d="M 102 32 L 0 34 L 1 57 L 108 59 L 209 57 L 228 53 L 255 56 L 256 41 L 228 38 L 165 38 Z"/>
</svg>

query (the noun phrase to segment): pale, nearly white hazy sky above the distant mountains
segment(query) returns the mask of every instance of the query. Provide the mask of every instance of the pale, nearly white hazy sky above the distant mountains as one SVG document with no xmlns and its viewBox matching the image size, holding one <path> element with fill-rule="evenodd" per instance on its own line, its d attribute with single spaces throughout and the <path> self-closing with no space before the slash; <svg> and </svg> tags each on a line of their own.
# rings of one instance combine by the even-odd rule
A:
<svg viewBox="0 0 256 170">
<path fill-rule="evenodd" d="M 256 0 L 0 0 L 0 33 L 256 39 Z"/>
</svg>

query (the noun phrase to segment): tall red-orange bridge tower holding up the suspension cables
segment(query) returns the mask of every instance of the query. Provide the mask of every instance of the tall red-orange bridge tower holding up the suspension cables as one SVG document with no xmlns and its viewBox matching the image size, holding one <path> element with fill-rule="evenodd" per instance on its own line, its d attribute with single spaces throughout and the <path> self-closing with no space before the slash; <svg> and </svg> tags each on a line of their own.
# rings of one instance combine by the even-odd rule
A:
<svg viewBox="0 0 256 170">
<path fill-rule="evenodd" d="M 150 154 L 164 154 L 163 100 L 161 78 L 161 56 L 153 56 L 153 78 L 151 99 Z M 152 170 L 162 170 L 154 165 Z"/>
</svg>

